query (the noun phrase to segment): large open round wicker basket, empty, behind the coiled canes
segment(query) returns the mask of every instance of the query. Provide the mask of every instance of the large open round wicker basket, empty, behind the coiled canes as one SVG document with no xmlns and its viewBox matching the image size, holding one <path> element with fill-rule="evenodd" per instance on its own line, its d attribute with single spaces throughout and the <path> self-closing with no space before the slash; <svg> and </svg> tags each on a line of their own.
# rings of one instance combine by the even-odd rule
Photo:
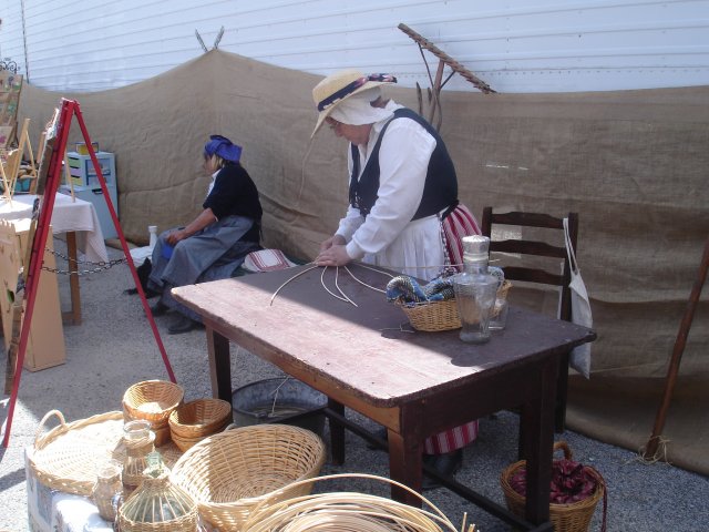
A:
<svg viewBox="0 0 709 532">
<path fill-rule="evenodd" d="M 287 484 L 316 477 L 325 444 L 309 430 L 258 424 L 210 436 L 177 460 L 172 480 L 196 501 L 199 514 L 222 532 L 239 531 L 250 510 Z M 288 489 L 280 499 L 307 494 L 311 485 Z"/>
</svg>

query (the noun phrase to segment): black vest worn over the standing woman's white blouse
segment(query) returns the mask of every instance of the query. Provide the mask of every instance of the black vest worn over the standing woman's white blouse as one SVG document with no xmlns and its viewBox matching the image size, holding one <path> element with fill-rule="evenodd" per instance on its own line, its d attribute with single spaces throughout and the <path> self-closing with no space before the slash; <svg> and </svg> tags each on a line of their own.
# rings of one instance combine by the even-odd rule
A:
<svg viewBox="0 0 709 532">
<path fill-rule="evenodd" d="M 352 151 L 352 175 L 350 176 L 350 205 L 359 208 L 362 216 L 367 216 L 374 202 L 377 202 L 377 192 L 379 191 L 379 149 L 381 140 L 384 137 L 387 127 L 392 121 L 401 117 L 411 119 L 423 127 L 435 139 L 435 150 L 431 154 L 429 168 L 425 175 L 425 184 L 423 186 L 423 196 L 419 208 L 412 219 L 431 216 L 443 211 L 446 207 L 454 207 L 458 204 L 458 178 L 455 176 L 455 167 L 453 161 L 445 149 L 445 144 L 439 136 L 438 132 L 417 113 L 410 109 L 398 109 L 394 116 L 384 124 L 377 139 L 377 144 L 372 150 L 369 161 L 364 166 L 364 171 L 360 178 L 359 174 L 359 151 L 354 144 L 350 144 Z"/>
</svg>

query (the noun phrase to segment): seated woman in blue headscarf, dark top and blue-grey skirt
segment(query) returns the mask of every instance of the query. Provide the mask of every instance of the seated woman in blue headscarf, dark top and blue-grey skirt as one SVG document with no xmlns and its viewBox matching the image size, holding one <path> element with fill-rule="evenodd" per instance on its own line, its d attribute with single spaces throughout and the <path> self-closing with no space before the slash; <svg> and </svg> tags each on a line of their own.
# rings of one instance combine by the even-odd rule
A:
<svg viewBox="0 0 709 532">
<path fill-rule="evenodd" d="M 249 253 L 260 249 L 261 204 L 258 191 L 240 165 L 242 146 L 212 135 L 204 146 L 204 167 L 212 175 L 199 215 L 184 227 L 160 235 L 153 249 L 148 288 L 161 294 L 154 316 L 177 310 L 171 335 L 199 326 L 199 317 L 179 305 L 175 286 L 230 277 Z"/>
</svg>

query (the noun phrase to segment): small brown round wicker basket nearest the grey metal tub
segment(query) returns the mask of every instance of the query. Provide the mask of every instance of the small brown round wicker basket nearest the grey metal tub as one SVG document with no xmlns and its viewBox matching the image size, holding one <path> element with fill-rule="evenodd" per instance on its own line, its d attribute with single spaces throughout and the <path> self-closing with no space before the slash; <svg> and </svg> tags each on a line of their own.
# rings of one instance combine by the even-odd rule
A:
<svg viewBox="0 0 709 532">
<path fill-rule="evenodd" d="M 197 399 L 169 415 L 169 431 L 183 439 L 205 438 L 232 422 L 232 405 L 223 399 Z"/>
</svg>

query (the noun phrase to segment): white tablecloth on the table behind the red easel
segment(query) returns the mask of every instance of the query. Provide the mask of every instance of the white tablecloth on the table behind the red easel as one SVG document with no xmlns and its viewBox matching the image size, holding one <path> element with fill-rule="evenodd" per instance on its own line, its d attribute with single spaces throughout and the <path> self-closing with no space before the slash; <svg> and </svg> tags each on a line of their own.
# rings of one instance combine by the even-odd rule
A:
<svg viewBox="0 0 709 532">
<path fill-rule="evenodd" d="M 37 196 L 32 194 L 16 194 L 11 202 L 0 198 L 0 218 L 29 218 Z M 66 194 L 56 193 L 52 209 L 52 232 L 56 234 L 76 232 L 76 247 L 85 260 L 107 262 L 109 254 L 101 223 L 93 204 L 74 198 Z"/>
</svg>

